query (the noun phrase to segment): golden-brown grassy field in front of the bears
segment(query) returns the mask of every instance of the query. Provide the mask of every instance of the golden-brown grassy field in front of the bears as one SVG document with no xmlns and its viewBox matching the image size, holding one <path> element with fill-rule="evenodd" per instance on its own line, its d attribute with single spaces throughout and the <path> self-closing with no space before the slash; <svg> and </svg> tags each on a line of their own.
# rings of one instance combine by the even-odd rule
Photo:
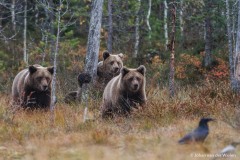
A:
<svg viewBox="0 0 240 160">
<path fill-rule="evenodd" d="M 10 95 L 0 96 L 0 159 L 26 160 L 188 160 L 211 159 L 232 141 L 240 141 L 239 97 L 227 83 L 147 89 L 147 107 L 130 117 L 101 120 L 101 100 L 89 102 L 90 120 L 83 123 L 83 106 L 56 105 L 55 123 L 49 111 L 13 111 Z M 215 118 L 203 144 L 179 145 L 201 117 Z M 240 146 L 229 159 L 240 159 Z"/>
</svg>

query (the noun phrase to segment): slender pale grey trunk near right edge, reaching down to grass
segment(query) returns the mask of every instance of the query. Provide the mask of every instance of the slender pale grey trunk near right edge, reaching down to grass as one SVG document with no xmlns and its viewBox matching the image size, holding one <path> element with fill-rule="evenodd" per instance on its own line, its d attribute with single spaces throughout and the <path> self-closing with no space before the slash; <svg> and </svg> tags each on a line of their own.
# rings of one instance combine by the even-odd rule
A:
<svg viewBox="0 0 240 160">
<path fill-rule="evenodd" d="M 230 65 L 230 82 L 231 88 L 234 89 L 234 61 L 233 61 L 233 42 L 232 42 L 232 28 L 231 28 L 231 21 L 230 21 L 230 12 L 229 12 L 229 1 L 226 0 L 226 18 L 227 18 L 227 35 L 228 35 L 228 59 Z"/>
</svg>

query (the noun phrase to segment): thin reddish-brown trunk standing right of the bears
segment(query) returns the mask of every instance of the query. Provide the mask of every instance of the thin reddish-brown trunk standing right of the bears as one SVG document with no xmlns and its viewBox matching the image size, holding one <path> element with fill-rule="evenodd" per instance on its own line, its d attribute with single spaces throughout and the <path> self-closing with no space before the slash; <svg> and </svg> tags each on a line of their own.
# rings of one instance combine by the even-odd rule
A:
<svg viewBox="0 0 240 160">
<path fill-rule="evenodd" d="M 171 35 L 171 55 L 170 55 L 170 73 L 169 73 L 169 92 L 170 98 L 173 98 L 175 95 L 175 84 L 174 84 L 174 75 L 175 75 L 175 26 L 176 26 L 176 8 L 173 4 L 171 9 L 172 13 L 172 35 Z"/>
</svg>

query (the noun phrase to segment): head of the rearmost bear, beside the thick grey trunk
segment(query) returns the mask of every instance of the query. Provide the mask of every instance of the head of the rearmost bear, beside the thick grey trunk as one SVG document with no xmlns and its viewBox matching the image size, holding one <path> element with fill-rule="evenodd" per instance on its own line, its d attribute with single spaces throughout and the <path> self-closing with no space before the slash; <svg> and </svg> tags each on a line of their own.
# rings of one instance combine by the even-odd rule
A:
<svg viewBox="0 0 240 160">
<path fill-rule="evenodd" d="M 110 75 L 118 75 L 123 67 L 123 54 L 110 54 L 108 51 L 103 52 L 103 66 L 105 71 Z"/>
</svg>

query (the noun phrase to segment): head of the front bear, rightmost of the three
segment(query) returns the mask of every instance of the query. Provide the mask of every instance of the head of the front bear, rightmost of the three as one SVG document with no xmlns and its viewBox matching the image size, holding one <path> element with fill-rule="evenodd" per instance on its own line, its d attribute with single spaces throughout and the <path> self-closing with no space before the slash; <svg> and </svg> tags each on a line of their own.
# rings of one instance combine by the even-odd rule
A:
<svg viewBox="0 0 240 160">
<path fill-rule="evenodd" d="M 136 93 L 145 87 L 145 66 L 141 65 L 137 69 L 123 67 L 121 69 L 122 83 L 124 90 Z"/>
</svg>

